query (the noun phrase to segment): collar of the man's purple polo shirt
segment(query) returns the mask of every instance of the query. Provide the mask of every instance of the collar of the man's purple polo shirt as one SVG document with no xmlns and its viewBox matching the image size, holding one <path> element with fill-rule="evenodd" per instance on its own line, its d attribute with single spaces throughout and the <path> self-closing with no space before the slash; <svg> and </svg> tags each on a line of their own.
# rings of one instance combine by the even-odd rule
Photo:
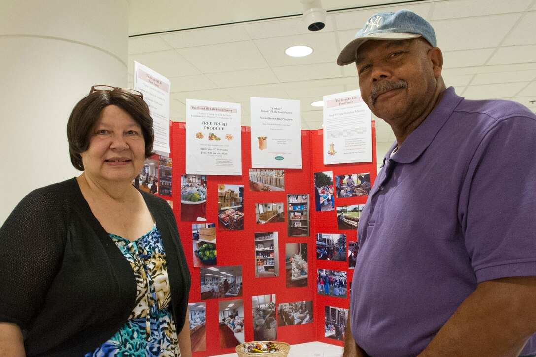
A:
<svg viewBox="0 0 536 357">
<path fill-rule="evenodd" d="M 423 121 L 419 127 L 407 137 L 404 144 L 401 145 L 396 154 L 394 154 L 392 160 L 399 163 L 411 163 L 419 158 L 432 140 L 434 140 L 437 133 L 441 130 L 452 114 L 452 111 L 458 106 L 461 100 L 463 100 L 463 98 L 456 95 L 453 87 L 446 88 L 440 103 L 426 117 L 425 121 Z M 391 159 L 391 153 L 396 146 L 397 143 L 394 142 L 389 148 L 389 151 L 383 159 L 383 166 L 385 166 L 385 163 Z"/>
</svg>

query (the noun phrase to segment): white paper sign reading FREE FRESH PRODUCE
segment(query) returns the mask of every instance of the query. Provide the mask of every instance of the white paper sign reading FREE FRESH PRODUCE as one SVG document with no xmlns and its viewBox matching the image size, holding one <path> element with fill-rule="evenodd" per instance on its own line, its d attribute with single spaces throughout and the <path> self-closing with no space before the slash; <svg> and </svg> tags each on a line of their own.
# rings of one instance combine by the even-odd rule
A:
<svg viewBox="0 0 536 357">
<path fill-rule="evenodd" d="M 242 175 L 240 104 L 186 100 L 186 173 Z"/>
</svg>

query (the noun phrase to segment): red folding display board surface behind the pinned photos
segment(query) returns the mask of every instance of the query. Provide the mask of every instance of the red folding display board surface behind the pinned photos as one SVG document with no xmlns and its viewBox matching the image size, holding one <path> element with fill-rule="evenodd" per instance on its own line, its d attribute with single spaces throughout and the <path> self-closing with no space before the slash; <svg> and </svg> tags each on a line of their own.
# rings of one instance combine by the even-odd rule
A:
<svg viewBox="0 0 536 357">
<path fill-rule="evenodd" d="M 251 191 L 249 188 L 249 170 L 251 169 L 250 128 L 242 127 L 242 175 L 241 176 L 206 176 L 206 221 L 181 221 L 181 175 L 185 174 L 185 127 L 184 123 L 172 123 L 170 128 L 171 154 L 173 159 L 173 207 L 177 219 L 181 241 L 185 250 L 190 269 L 192 284 L 189 302 L 206 303 L 205 350 L 194 352 L 196 357 L 234 352 L 234 347 L 222 347 L 220 335 L 222 323 L 219 319 L 219 303 L 222 301 L 243 300 L 244 338 L 254 340 L 252 318 L 252 296 L 276 295 L 276 306 L 280 304 L 312 301 L 314 316 L 312 323 L 283 326 L 278 321 L 277 340 L 289 344 L 300 344 L 310 341 L 322 341 L 342 346 L 342 341 L 325 337 L 325 307 L 348 308 L 349 294 L 346 298 L 318 295 L 317 270 L 335 270 L 347 272 L 347 281 L 352 279 L 353 270 L 348 269 L 348 262 L 323 261 L 316 259 L 317 233 L 344 233 L 348 241 L 357 239 L 356 230 L 339 230 L 337 224 L 337 207 L 343 205 L 360 205 L 366 202 L 367 196 L 334 198 L 334 210 L 327 212 L 315 211 L 314 173 L 332 172 L 333 175 L 370 173 L 371 182 L 376 178 L 376 142 L 373 140 L 373 162 L 359 164 L 323 165 L 323 130 L 302 130 L 302 169 L 285 169 L 283 191 Z M 375 128 L 373 122 L 373 138 Z M 334 181 L 334 176 L 333 176 Z M 218 228 L 218 185 L 243 185 L 243 230 L 221 230 Z M 333 182 L 333 189 L 335 183 Z M 287 195 L 309 195 L 309 236 L 289 237 L 287 221 L 289 219 Z M 336 196 L 337 194 L 334 193 Z M 169 197 L 162 197 L 169 200 Z M 284 221 L 259 224 L 256 221 L 255 204 L 284 203 Z M 200 293 L 200 269 L 193 266 L 192 256 L 192 224 L 215 223 L 217 236 L 217 265 L 242 267 L 242 296 L 202 300 Z M 279 276 L 255 278 L 256 251 L 255 233 L 278 233 Z M 287 287 L 286 244 L 308 244 L 308 277 L 307 286 Z M 346 252 L 345 252 L 346 254 Z M 276 310 L 277 311 L 277 310 Z M 188 326 L 185 326 L 188 328 Z"/>
</svg>

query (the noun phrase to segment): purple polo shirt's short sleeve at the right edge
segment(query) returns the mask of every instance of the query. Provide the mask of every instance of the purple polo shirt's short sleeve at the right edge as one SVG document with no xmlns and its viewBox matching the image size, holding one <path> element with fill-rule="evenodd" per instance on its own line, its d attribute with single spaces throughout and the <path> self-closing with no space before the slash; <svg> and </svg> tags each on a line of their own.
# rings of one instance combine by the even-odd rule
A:
<svg viewBox="0 0 536 357">
<path fill-rule="evenodd" d="M 478 282 L 536 276 L 535 151 L 536 118 L 518 116 L 498 120 L 475 152 L 462 228 Z"/>
</svg>

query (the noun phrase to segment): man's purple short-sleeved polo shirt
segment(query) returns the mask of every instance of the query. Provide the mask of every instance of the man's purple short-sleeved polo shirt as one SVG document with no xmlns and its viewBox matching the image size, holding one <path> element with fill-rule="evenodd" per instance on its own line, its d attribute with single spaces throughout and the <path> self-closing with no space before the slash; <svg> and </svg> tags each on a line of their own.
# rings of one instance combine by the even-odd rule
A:
<svg viewBox="0 0 536 357">
<path fill-rule="evenodd" d="M 419 354 L 479 282 L 536 276 L 531 111 L 450 87 L 393 148 L 361 214 L 352 281 L 352 334 L 374 357 Z"/>
</svg>

